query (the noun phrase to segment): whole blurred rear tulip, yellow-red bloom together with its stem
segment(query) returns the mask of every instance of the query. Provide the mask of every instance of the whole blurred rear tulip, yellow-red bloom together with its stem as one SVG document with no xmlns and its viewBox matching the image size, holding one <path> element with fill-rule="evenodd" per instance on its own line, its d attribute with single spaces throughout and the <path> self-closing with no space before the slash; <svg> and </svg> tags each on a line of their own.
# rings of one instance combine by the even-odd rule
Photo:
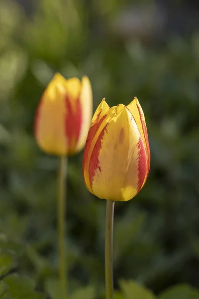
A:
<svg viewBox="0 0 199 299">
<path fill-rule="evenodd" d="M 55 74 L 39 103 L 35 117 L 35 139 L 49 154 L 59 156 L 58 170 L 58 251 L 61 299 L 67 298 L 65 246 L 65 202 L 67 156 L 83 149 L 92 118 L 92 88 L 84 76 L 66 80 Z"/>
</svg>

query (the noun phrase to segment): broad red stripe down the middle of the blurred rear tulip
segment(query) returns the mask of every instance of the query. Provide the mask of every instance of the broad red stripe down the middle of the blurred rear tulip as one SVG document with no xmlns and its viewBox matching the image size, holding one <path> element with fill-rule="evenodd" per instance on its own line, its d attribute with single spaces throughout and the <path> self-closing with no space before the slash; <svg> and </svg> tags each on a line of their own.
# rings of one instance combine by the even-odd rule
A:
<svg viewBox="0 0 199 299">
<path fill-rule="evenodd" d="M 66 119 L 65 119 L 65 133 L 68 141 L 69 152 L 73 151 L 77 145 L 81 126 L 82 126 L 82 106 L 80 97 L 76 100 L 75 109 L 72 107 L 70 98 L 66 96 Z"/>
</svg>

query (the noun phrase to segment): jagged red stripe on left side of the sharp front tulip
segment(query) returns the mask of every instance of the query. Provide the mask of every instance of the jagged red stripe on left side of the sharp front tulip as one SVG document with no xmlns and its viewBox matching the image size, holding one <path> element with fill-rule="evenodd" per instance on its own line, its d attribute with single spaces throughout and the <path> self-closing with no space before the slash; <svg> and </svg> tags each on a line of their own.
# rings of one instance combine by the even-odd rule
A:
<svg viewBox="0 0 199 299">
<path fill-rule="evenodd" d="M 100 119 L 100 122 L 98 124 L 98 128 L 100 128 L 100 124 L 102 123 L 102 121 L 105 117 L 106 117 L 106 115 L 104 115 Z M 107 126 L 108 126 L 108 123 L 101 130 L 100 135 L 98 137 L 98 140 L 97 140 L 97 142 L 94 146 L 94 149 L 92 151 L 90 161 L 89 161 L 89 181 L 90 181 L 91 188 L 92 188 L 92 183 L 94 181 L 96 171 L 97 170 L 101 171 L 100 161 L 99 161 L 99 153 L 100 153 L 100 149 L 101 149 L 101 143 L 102 143 L 102 140 L 103 140 L 103 136 L 104 136 L 105 132 L 107 132 Z"/>
</svg>

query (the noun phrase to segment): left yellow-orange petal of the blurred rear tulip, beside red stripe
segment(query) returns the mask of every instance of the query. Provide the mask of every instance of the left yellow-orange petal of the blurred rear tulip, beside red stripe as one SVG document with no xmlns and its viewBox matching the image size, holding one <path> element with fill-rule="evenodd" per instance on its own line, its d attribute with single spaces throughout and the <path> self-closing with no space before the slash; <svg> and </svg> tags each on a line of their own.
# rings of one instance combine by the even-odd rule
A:
<svg viewBox="0 0 199 299">
<path fill-rule="evenodd" d="M 44 91 L 35 117 L 37 143 L 41 149 L 51 154 L 65 154 L 67 148 L 64 80 L 60 74 L 54 76 Z"/>
</svg>

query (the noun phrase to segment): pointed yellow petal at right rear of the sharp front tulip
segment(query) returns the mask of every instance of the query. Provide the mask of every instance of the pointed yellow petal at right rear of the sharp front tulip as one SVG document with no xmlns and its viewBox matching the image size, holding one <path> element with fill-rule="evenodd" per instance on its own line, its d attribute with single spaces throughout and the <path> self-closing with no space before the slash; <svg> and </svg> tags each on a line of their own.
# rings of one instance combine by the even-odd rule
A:
<svg viewBox="0 0 199 299">
<path fill-rule="evenodd" d="M 147 172 L 146 172 L 146 177 L 145 180 L 143 182 L 143 185 L 146 182 L 148 173 L 149 173 L 149 169 L 150 169 L 150 159 L 151 159 L 151 154 L 150 154 L 150 147 L 149 147 L 149 139 L 148 139 L 148 133 L 147 133 L 147 127 L 146 127 L 146 122 L 145 122 L 145 117 L 144 117 L 144 113 L 142 110 L 142 107 L 140 106 L 140 103 L 138 101 L 138 99 L 135 97 L 133 99 L 133 101 L 126 106 L 127 109 L 131 112 L 131 114 L 134 117 L 134 120 L 138 126 L 139 132 L 141 134 L 142 140 L 144 142 L 144 146 L 145 146 L 145 150 L 146 150 L 146 154 L 147 154 Z"/>
</svg>

